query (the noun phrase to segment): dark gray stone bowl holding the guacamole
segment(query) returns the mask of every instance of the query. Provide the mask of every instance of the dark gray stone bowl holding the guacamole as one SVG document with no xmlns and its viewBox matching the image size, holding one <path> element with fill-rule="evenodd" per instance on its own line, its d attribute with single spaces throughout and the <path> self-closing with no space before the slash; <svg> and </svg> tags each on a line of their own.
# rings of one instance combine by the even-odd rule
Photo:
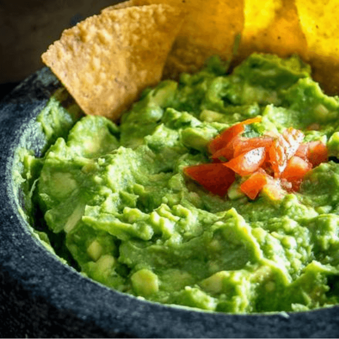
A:
<svg viewBox="0 0 339 339">
<path fill-rule="evenodd" d="M 47 251 L 20 214 L 15 149 L 41 154 L 36 116 L 61 84 L 48 68 L 0 102 L 0 337 L 337 338 L 339 307 L 231 315 L 170 307 L 115 292 Z"/>
</svg>

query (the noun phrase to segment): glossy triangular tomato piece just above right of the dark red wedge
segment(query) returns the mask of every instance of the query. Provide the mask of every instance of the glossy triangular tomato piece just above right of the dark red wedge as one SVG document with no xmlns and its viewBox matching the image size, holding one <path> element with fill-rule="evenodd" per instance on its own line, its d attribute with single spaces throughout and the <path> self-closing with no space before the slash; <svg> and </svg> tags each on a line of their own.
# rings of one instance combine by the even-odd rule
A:
<svg viewBox="0 0 339 339">
<path fill-rule="evenodd" d="M 228 162 L 223 163 L 226 167 L 233 170 L 235 173 L 245 176 L 252 174 L 262 165 L 265 160 L 265 148 L 255 148 L 247 153 L 238 155 Z"/>
</svg>

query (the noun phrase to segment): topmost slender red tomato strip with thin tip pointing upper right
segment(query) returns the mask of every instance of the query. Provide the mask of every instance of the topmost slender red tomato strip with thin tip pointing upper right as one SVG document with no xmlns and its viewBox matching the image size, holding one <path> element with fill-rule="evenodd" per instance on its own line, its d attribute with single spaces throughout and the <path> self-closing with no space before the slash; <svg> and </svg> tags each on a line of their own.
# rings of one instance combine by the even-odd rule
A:
<svg viewBox="0 0 339 339">
<path fill-rule="evenodd" d="M 247 119 L 241 123 L 236 123 L 235 125 L 231 126 L 230 128 L 224 130 L 215 139 L 213 139 L 208 145 L 208 151 L 211 154 L 214 154 L 216 151 L 224 148 L 227 144 L 237 135 L 243 133 L 245 131 L 244 125 L 248 125 L 250 123 L 259 123 L 262 121 L 262 117 L 256 117 Z"/>
</svg>

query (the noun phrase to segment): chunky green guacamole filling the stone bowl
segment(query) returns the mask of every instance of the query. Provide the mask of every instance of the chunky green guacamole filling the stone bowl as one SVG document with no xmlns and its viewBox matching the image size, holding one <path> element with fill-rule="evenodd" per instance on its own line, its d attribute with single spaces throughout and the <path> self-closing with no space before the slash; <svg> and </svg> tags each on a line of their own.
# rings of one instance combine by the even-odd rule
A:
<svg viewBox="0 0 339 339">
<path fill-rule="evenodd" d="M 236 182 L 220 197 L 184 175 L 211 162 L 211 139 L 257 116 L 246 136 L 293 127 L 330 161 L 278 200 Z M 82 274 L 109 288 L 209 311 L 304 311 L 339 302 L 338 154 L 339 99 L 298 57 L 252 54 L 231 74 L 212 58 L 145 90 L 118 125 L 77 121 L 37 159 L 34 194 Z"/>
</svg>

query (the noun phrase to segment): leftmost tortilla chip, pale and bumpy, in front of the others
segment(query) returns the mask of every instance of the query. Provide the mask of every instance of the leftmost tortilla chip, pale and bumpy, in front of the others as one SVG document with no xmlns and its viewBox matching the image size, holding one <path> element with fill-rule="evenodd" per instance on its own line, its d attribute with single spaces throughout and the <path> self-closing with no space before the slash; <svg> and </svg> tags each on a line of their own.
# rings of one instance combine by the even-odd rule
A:
<svg viewBox="0 0 339 339">
<path fill-rule="evenodd" d="M 164 4 L 108 9 L 63 31 L 42 60 L 85 113 L 116 120 L 160 80 L 183 17 Z"/>
</svg>

